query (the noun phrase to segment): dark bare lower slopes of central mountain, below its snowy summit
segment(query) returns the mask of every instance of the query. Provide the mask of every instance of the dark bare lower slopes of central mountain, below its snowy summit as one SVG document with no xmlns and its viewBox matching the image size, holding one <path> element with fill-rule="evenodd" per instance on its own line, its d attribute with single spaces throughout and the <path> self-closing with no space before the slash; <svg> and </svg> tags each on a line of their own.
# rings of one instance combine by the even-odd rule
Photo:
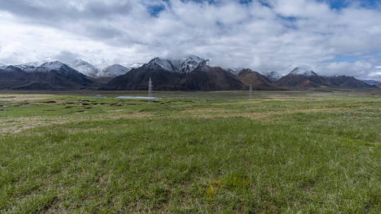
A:
<svg viewBox="0 0 381 214">
<path fill-rule="evenodd" d="M 162 62 L 154 61 L 147 63 L 140 68 L 131 70 L 125 75 L 115 77 L 107 83 L 104 89 L 146 90 L 149 80 L 154 81 L 155 90 L 220 91 L 246 89 L 246 86 L 234 75 L 227 73 L 226 70 L 219 67 L 210 67 L 202 64 L 198 65 L 192 72 L 183 74 L 180 70 L 169 70 L 169 68 L 175 67 L 172 63 L 171 67 L 167 67 L 167 69 L 164 69 L 165 67 L 162 68 L 163 65 L 160 66 L 159 63 Z M 169 65 L 167 64 L 167 66 Z M 183 68 L 186 68 L 186 66 Z"/>
</svg>

